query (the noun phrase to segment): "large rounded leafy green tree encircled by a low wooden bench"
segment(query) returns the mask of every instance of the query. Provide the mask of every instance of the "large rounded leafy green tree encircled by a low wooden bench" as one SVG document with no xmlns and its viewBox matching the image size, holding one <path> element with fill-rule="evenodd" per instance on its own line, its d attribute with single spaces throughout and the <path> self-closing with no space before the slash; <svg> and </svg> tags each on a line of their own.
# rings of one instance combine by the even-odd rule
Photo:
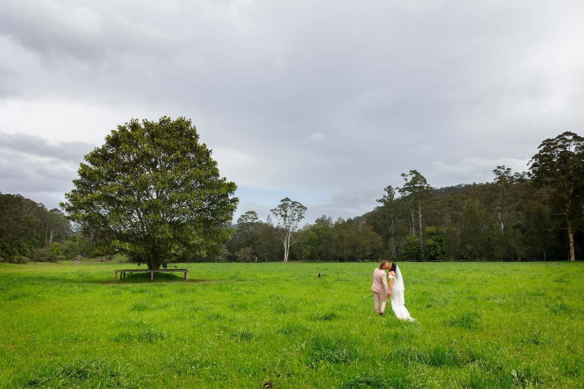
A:
<svg viewBox="0 0 584 389">
<path fill-rule="evenodd" d="M 217 254 L 230 238 L 237 186 L 190 120 L 131 120 L 85 161 L 61 207 L 94 244 L 158 269 Z"/>
</svg>

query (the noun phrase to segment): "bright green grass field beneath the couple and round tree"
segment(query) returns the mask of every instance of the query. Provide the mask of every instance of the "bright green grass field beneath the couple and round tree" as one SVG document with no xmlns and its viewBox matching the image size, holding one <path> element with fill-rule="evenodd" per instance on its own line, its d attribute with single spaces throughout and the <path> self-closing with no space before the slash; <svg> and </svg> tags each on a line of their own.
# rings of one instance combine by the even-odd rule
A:
<svg viewBox="0 0 584 389">
<path fill-rule="evenodd" d="M 377 264 L 128 266 L 0 264 L 0 388 L 584 387 L 583 263 L 401 262 L 417 323 Z"/>
</svg>

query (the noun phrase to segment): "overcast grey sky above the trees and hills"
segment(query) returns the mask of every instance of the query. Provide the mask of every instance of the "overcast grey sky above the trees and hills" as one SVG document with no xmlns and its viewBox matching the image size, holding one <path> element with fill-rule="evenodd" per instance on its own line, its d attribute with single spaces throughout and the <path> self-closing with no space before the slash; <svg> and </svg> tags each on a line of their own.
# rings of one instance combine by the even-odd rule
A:
<svg viewBox="0 0 584 389">
<path fill-rule="evenodd" d="M 584 135 L 584 2 L 0 0 L 0 191 L 53 208 L 131 118 L 185 116 L 238 185 L 371 211 Z"/>
</svg>

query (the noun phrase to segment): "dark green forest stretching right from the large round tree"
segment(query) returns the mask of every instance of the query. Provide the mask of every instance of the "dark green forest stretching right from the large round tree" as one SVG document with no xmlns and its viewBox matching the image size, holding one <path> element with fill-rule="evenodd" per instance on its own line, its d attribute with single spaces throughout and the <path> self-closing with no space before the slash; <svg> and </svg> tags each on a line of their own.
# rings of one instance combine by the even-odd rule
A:
<svg viewBox="0 0 584 389">
<path fill-rule="evenodd" d="M 505 166 L 491 183 L 433 188 L 416 170 L 380 190 L 353 219 L 323 215 L 294 234 L 285 258 L 304 261 L 575 260 L 584 254 L 584 138 L 545 139 L 527 172 Z M 273 212 L 274 210 L 272 210 Z M 249 211 L 227 244 L 234 261 L 282 257 L 281 223 Z"/>
</svg>

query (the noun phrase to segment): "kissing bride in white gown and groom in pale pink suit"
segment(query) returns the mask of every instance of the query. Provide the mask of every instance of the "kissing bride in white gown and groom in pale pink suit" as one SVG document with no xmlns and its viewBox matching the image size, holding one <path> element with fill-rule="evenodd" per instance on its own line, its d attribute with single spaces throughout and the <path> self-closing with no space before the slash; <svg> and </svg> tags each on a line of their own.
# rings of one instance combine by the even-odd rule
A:
<svg viewBox="0 0 584 389">
<path fill-rule="evenodd" d="M 389 272 L 385 273 L 386 270 Z M 387 280 L 389 279 L 389 285 Z M 375 311 L 383 316 L 385 314 L 385 304 L 387 298 L 391 299 L 391 309 L 398 319 L 416 321 L 415 318 L 409 316 L 408 309 L 405 307 L 404 299 L 404 278 L 399 271 L 398 265 L 395 262 L 381 261 L 379 267 L 373 271 L 373 297 L 375 300 Z M 381 302 L 381 307 L 380 303 Z"/>
</svg>

